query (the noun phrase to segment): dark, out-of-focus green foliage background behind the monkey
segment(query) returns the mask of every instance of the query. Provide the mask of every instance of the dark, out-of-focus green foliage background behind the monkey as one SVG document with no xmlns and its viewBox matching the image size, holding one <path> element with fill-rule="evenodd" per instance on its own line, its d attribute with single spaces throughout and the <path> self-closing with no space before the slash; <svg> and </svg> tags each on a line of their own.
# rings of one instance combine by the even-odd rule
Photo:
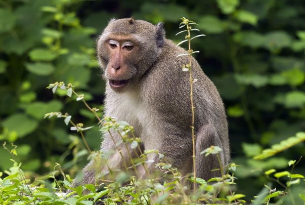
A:
<svg viewBox="0 0 305 205">
<path fill-rule="evenodd" d="M 167 38 L 176 43 L 184 39 L 175 36 L 181 17 L 199 24 L 201 31 L 193 35 L 206 34 L 192 47 L 226 105 L 232 160 L 242 165 L 236 171 L 239 192 L 251 198 L 267 183 L 262 171 L 288 169 L 289 160 L 305 155 L 303 143 L 267 160 L 251 158 L 305 130 L 302 0 L 1 0 L 0 142 L 18 146 L 28 176 L 53 171 L 55 162 L 74 176 L 86 162 L 79 135 L 63 119 L 43 119 L 45 113 L 68 112 L 74 122 L 95 126 L 85 137 L 92 149 L 99 148 L 94 115 L 65 91 L 53 94 L 46 87 L 72 83 L 92 107 L 103 109 L 105 82 L 95 40 L 111 18 L 130 16 L 164 22 Z M 0 170 L 12 165 L 10 158 L 0 148 Z M 305 163 L 296 169 L 305 173 Z M 304 188 L 301 183 L 292 193 Z"/>
</svg>

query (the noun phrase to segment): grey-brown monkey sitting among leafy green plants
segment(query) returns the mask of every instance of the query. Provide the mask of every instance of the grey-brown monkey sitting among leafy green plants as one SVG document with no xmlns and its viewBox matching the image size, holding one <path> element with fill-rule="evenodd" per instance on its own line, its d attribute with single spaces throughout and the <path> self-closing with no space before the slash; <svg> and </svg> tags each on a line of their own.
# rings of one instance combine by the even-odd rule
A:
<svg viewBox="0 0 305 205">
<path fill-rule="evenodd" d="M 134 18 L 112 19 L 97 39 L 97 59 L 106 80 L 105 116 L 126 121 L 135 128 L 142 140 L 141 149 L 158 150 L 183 176 L 193 172 L 191 135 L 192 112 L 188 72 L 182 66 L 189 62 L 187 51 L 165 37 L 163 23 L 153 25 Z M 195 172 L 197 177 L 220 177 L 219 161 L 215 155 L 200 155 L 210 146 L 222 148 L 220 158 L 225 166 L 230 160 L 227 116 L 224 103 L 212 81 L 192 57 L 195 107 L 194 130 Z M 101 151 L 115 150 L 118 134 L 104 134 Z M 114 153 L 108 159 L 108 168 L 122 169 L 129 159 L 127 150 L 120 147 L 121 155 Z M 158 162 L 156 154 L 148 160 Z M 94 184 L 99 173 L 107 173 L 105 165 L 92 160 L 83 169 L 81 179 L 73 186 Z M 155 170 L 148 165 L 149 172 Z M 139 169 L 141 178 L 147 173 Z"/>
</svg>

